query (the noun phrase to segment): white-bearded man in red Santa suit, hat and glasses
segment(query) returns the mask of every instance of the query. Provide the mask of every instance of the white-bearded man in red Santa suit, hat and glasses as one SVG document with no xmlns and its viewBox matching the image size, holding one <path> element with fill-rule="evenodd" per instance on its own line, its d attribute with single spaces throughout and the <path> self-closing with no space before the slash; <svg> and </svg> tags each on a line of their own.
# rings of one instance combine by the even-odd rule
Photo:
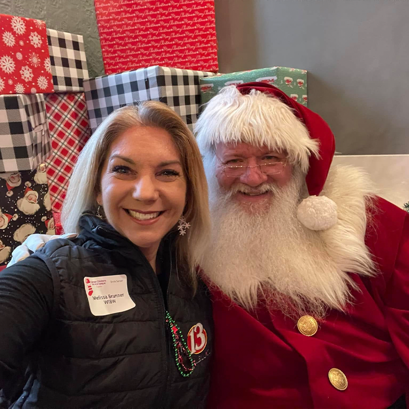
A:
<svg viewBox="0 0 409 409">
<path fill-rule="evenodd" d="M 406 407 L 409 214 L 362 171 L 330 170 L 328 125 L 272 85 L 224 88 L 195 130 L 213 223 L 209 407 Z"/>
</svg>

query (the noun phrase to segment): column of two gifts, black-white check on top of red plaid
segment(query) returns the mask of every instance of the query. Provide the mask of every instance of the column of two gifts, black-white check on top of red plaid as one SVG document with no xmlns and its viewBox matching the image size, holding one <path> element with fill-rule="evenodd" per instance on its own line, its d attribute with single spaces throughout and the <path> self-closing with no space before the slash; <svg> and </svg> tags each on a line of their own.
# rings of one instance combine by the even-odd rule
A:
<svg viewBox="0 0 409 409">
<path fill-rule="evenodd" d="M 46 96 L 53 153 L 46 162 L 51 208 L 61 212 L 78 154 L 89 138 L 84 80 L 88 70 L 82 35 L 47 29 L 54 94 Z"/>
</svg>

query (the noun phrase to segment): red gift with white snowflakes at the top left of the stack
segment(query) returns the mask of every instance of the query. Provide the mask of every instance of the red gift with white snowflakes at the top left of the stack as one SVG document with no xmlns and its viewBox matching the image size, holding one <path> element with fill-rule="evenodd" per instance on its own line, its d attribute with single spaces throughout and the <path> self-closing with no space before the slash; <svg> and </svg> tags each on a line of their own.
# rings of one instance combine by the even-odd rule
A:
<svg viewBox="0 0 409 409">
<path fill-rule="evenodd" d="M 44 21 L 0 14 L 0 94 L 53 92 Z"/>
</svg>

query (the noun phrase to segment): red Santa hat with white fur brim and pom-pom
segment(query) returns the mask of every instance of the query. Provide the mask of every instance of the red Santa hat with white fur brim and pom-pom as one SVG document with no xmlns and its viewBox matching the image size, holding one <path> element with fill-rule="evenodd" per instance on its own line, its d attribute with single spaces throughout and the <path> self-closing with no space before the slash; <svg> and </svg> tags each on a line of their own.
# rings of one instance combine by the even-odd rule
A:
<svg viewBox="0 0 409 409">
<path fill-rule="evenodd" d="M 319 196 L 324 188 L 335 153 L 335 139 L 328 124 L 315 112 L 288 97 L 274 85 L 249 82 L 238 84 L 236 88 L 242 95 L 254 94 L 254 90 L 270 95 L 290 108 L 287 109 L 283 104 L 279 104 L 280 106 L 275 107 L 274 110 L 268 111 L 268 118 L 271 117 L 271 129 L 260 136 L 245 137 L 244 141 L 286 150 L 290 161 L 299 163 L 301 169 L 306 172 L 306 184 L 310 196 L 300 203 L 297 211 L 298 219 L 311 230 L 326 230 L 332 227 L 337 222 L 336 204 L 326 196 Z M 232 99 L 229 100 L 229 98 Z M 237 92 L 226 92 L 226 97 L 220 98 L 220 104 L 215 105 L 214 109 L 210 109 L 213 115 L 219 115 L 217 112 L 223 111 L 223 105 L 230 112 L 229 115 L 233 115 L 233 111 L 235 111 L 234 115 L 240 115 L 239 106 L 235 105 L 235 98 L 237 98 Z M 214 99 L 216 100 L 217 96 Z M 211 107 L 212 100 L 208 104 L 208 107 Z M 224 129 L 220 129 L 222 121 L 216 120 L 217 125 L 213 128 L 212 125 L 206 124 L 209 121 L 209 118 L 205 118 L 208 107 L 199 117 L 195 126 L 198 144 L 202 152 L 203 148 L 206 150 L 211 144 L 218 142 L 244 142 L 242 132 L 245 131 L 240 128 L 236 130 L 233 139 L 230 138 L 228 141 L 223 139 L 224 133 L 230 132 L 228 128 L 234 127 L 233 124 L 228 123 L 229 121 L 223 121 L 225 125 L 221 125 L 221 127 L 225 126 Z M 243 117 L 246 116 L 246 113 L 245 111 L 242 112 Z M 254 112 L 254 117 L 247 115 L 249 128 L 257 126 L 258 113 Z M 300 126 L 300 124 L 304 126 Z"/>
</svg>

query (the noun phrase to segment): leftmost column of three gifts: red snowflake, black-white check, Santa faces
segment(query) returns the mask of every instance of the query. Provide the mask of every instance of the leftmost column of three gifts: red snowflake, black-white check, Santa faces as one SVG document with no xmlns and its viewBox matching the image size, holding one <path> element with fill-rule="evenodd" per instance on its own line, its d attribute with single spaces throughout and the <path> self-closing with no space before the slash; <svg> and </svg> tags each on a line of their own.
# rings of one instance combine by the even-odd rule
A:
<svg viewBox="0 0 409 409">
<path fill-rule="evenodd" d="M 52 217 L 46 168 L 51 153 L 43 93 L 53 92 L 46 25 L 0 14 L 0 266 Z M 47 223 L 46 223 L 47 222 Z"/>
</svg>

